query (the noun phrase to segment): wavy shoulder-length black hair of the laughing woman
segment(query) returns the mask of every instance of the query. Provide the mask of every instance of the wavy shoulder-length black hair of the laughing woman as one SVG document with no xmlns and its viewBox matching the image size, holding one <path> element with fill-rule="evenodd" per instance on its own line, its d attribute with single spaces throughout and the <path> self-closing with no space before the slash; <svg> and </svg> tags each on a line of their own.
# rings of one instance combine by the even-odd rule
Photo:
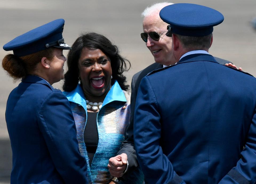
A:
<svg viewBox="0 0 256 184">
<path fill-rule="evenodd" d="M 72 45 L 72 49 L 68 53 L 68 71 L 64 75 L 64 91 L 72 91 L 77 87 L 79 77 L 78 60 L 84 47 L 89 49 L 100 49 L 104 54 L 106 54 L 111 61 L 113 77 L 111 85 L 113 85 L 115 80 L 117 80 L 122 90 L 127 91 L 129 89 L 129 85 L 125 84 L 127 81 L 126 77 L 123 76 L 123 72 L 130 69 L 131 63 L 119 55 L 117 46 L 113 45 L 105 36 L 97 33 L 86 33 L 76 39 Z M 127 64 L 129 64 L 129 67 Z"/>
</svg>

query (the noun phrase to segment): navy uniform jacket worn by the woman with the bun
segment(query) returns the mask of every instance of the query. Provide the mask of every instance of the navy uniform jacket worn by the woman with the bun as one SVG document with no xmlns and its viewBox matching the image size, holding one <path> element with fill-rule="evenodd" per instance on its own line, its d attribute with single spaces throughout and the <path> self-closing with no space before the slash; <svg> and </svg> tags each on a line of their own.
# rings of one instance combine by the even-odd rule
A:
<svg viewBox="0 0 256 184">
<path fill-rule="evenodd" d="M 69 101 L 60 90 L 28 75 L 10 93 L 5 115 L 11 183 L 88 183 Z"/>
</svg>

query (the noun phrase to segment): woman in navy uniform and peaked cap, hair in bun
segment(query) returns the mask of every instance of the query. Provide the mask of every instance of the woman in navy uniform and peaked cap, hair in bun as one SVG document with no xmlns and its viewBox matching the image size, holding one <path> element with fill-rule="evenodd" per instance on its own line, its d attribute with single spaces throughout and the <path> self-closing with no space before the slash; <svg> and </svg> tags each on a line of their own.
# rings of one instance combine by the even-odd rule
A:
<svg viewBox="0 0 256 184">
<path fill-rule="evenodd" d="M 64 78 L 63 19 L 37 27 L 3 46 L 3 68 L 21 83 L 11 91 L 6 123 L 13 152 L 11 183 L 88 183 L 67 98 L 52 87 Z"/>
</svg>

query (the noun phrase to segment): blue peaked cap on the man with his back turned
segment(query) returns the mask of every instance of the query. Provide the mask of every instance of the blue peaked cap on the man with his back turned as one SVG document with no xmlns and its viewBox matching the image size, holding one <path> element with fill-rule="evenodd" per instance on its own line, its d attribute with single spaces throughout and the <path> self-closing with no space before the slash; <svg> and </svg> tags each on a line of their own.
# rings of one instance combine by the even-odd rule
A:
<svg viewBox="0 0 256 184">
<path fill-rule="evenodd" d="M 213 32 L 213 26 L 224 20 L 219 11 L 190 3 L 166 6 L 159 15 L 164 22 L 170 24 L 167 27 L 167 36 L 171 36 L 171 33 L 193 37 L 206 36 Z"/>
</svg>

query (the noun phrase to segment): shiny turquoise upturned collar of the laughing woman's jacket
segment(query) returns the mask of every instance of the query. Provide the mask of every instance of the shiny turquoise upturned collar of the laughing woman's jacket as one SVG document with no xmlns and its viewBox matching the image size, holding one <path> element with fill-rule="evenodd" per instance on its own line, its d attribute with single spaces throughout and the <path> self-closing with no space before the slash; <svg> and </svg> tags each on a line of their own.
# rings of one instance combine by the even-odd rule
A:
<svg viewBox="0 0 256 184">
<path fill-rule="evenodd" d="M 67 93 L 64 92 L 64 94 Z M 78 84 L 73 91 L 66 95 L 66 97 L 70 102 L 77 103 L 83 106 L 84 109 L 87 109 L 85 95 L 83 94 L 81 85 Z M 123 93 L 123 90 L 121 89 L 117 81 L 115 81 L 114 85 L 110 88 L 109 92 L 107 93 L 103 101 L 102 107 L 113 101 L 126 102 L 125 94 Z"/>
</svg>

